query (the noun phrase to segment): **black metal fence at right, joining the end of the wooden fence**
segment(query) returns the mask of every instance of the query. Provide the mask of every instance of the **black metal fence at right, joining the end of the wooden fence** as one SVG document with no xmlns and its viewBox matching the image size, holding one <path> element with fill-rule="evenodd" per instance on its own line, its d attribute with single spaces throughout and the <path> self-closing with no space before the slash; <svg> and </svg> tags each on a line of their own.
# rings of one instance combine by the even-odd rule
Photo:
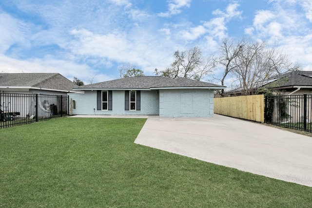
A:
<svg viewBox="0 0 312 208">
<path fill-rule="evenodd" d="M 265 97 L 265 122 L 312 132 L 312 95 Z"/>
</svg>

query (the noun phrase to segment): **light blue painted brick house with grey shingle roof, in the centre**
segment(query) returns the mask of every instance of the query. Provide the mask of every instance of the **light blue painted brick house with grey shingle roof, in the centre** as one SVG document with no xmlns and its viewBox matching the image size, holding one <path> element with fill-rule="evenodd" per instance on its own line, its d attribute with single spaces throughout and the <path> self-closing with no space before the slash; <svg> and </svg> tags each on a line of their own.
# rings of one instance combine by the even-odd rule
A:
<svg viewBox="0 0 312 208">
<path fill-rule="evenodd" d="M 214 90 L 224 86 L 187 78 L 134 76 L 76 88 L 72 114 L 212 117 Z"/>
</svg>

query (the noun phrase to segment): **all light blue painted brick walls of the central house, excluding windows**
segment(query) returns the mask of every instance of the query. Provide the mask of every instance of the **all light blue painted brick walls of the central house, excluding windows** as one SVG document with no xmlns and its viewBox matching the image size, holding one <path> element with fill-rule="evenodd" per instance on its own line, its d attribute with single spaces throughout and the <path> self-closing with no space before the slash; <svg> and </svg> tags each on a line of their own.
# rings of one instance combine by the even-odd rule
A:
<svg viewBox="0 0 312 208">
<path fill-rule="evenodd" d="M 141 91 L 141 110 L 125 111 L 125 91 L 114 90 L 113 110 L 97 110 L 97 91 L 69 94 L 75 100 L 76 109 L 70 114 L 96 115 L 159 115 L 160 117 L 212 117 L 214 91 L 207 89 Z M 72 105 L 73 106 L 73 103 Z"/>
</svg>

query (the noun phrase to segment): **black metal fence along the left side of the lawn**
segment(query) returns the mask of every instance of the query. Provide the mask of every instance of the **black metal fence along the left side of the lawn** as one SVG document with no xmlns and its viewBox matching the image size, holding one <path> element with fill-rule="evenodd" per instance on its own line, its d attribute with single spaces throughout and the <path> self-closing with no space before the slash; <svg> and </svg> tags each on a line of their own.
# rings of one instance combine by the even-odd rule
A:
<svg viewBox="0 0 312 208">
<path fill-rule="evenodd" d="M 68 96 L 0 93 L 0 129 L 68 115 Z"/>
</svg>

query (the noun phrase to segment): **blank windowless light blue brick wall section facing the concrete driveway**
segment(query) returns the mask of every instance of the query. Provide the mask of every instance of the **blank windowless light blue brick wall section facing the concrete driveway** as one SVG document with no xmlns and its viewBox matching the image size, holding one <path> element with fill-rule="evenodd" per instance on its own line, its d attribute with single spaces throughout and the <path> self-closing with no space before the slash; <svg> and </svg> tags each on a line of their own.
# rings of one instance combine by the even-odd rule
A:
<svg viewBox="0 0 312 208">
<path fill-rule="evenodd" d="M 213 117 L 214 91 L 206 89 L 160 90 L 160 117 Z"/>
</svg>

